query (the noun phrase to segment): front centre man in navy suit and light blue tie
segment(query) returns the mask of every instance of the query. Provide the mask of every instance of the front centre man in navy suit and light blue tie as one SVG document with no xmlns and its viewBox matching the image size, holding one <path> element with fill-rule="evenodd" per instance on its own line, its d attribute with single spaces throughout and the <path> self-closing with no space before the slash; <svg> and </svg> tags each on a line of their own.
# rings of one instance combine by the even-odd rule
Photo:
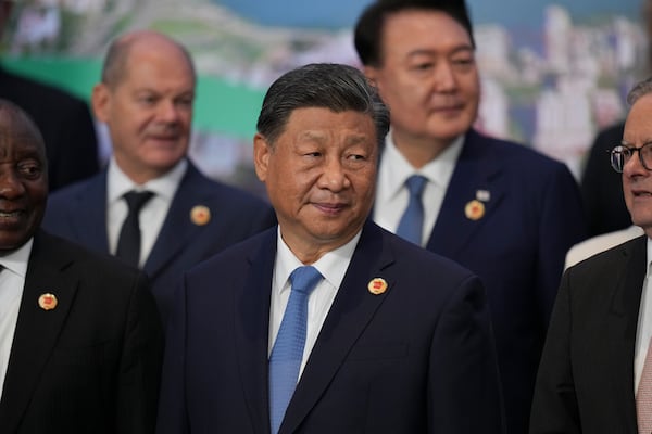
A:
<svg viewBox="0 0 652 434">
<path fill-rule="evenodd" d="M 481 283 L 367 220 L 388 126 L 351 66 L 272 85 L 254 164 L 278 228 L 185 276 L 159 433 L 502 432 Z"/>
</svg>

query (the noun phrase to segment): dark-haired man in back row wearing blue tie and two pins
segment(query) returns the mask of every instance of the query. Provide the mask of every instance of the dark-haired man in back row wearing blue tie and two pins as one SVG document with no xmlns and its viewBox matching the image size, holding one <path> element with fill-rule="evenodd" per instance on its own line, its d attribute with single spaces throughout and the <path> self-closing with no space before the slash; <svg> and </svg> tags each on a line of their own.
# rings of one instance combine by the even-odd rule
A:
<svg viewBox="0 0 652 434">
<path fill-rule="evenodd" d="M 480 277 L 507 432 L 522 434 L 565 254 L 585 237 L 577 184 L 562 163 L 473 128 L 480 80 L 464 1 L 378 0 L 355 47 L 391 107 L 374 220 Z"/>
</svg>

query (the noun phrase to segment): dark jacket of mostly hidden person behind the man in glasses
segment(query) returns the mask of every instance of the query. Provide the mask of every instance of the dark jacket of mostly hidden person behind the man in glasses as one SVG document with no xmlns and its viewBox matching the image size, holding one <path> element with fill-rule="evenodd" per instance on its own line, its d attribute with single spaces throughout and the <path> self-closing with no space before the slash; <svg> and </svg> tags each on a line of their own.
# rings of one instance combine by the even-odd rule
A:
<svg viewBox="0 0 652 434">
<path fill-rule="evenodd" d="M 600 131 L 589 150 L 580 182 L 589 237 L 631 225 L 623 196 L 623 176 L 611 167 L 609 154 L 623 141 L 624 129 L 625 124 L 622 123 Z"/>
</svg>

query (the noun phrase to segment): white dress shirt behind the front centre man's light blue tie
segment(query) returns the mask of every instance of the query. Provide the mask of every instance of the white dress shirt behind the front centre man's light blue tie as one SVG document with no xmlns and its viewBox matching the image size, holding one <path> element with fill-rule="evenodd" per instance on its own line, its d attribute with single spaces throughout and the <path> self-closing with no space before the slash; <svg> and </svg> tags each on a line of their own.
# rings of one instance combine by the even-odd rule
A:
<svg viewBox="0 0 652 434">
<path fill-rule="evenodd" d="M 351 263 L 353 251 L 358 245 L 361 232 L 347 244 L 333 252 L 326 253 L 316 263 L 312 264 L 324 277 L 317 286 L 312 291 L 308 298 L 308 328 L 305 331 L 305 346 L 303 349 L 303 359 L 299 369 L 299 378 L 303 372 L 305 362 L 312 352 L 317 335 L 322 330 L 324 320 L 330 310 L 333 301 L 337 295 L 342 279 Z M 290 251 L 288 245 L 283 241 L 280 228 L 278 229 L 278 238 L 276 243 L 276 261 L 274 264 L 274 276 L 272 278 L 272 303 L 269 306 L 269 346 L 267 356 L 272 355 L 272 348 L 280 329 L 280 321 L 285 314 L 288 299 L 290 298 L 291 283 L 290 275 L 297 267 L 303 264 L 297 259 L 297 256 Z"/>
</svg>

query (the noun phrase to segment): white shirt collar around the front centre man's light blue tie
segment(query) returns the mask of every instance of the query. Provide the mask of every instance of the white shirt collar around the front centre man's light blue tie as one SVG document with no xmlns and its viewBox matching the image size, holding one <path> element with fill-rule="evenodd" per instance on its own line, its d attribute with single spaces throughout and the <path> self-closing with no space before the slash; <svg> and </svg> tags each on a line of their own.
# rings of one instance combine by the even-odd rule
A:
<svg viewBox="0 0 652 434">
<path fill-rule="evenodd" d="M 355 237 L 351 239 L 347 244 L 324 254 L 316 263 L 312 264 L 328 281 L 328 283 L 338 289 L 344 279 L 347 269 L 353 252 L 360 241 L 362 230 L 358 231 Z M 275 288 L 279 288 L 280 292 L 289 290 L 290 275 L 297 267 L 301 267 L 303 264 L 294 256 L 290 247 L 285 243 L 280 237 L 280 226 L 277 229 L 276 239 L 276 266 L 275 266 Z"/>
</svg>

